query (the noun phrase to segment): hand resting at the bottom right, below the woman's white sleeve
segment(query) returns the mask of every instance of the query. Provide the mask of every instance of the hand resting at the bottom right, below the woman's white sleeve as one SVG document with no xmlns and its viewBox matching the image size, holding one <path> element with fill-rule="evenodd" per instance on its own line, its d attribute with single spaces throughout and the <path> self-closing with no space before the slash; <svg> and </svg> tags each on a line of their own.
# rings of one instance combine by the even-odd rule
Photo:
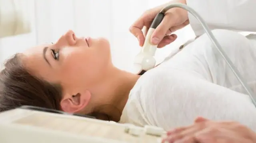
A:
<svg viewBox="0 0 256 143">
<path fill-rule="evenodd" d="M 168 131 L 162 143 L 256 143 L 256 133 L 237 122 L 197 118 L 194 125 Z"/>
</svg>

